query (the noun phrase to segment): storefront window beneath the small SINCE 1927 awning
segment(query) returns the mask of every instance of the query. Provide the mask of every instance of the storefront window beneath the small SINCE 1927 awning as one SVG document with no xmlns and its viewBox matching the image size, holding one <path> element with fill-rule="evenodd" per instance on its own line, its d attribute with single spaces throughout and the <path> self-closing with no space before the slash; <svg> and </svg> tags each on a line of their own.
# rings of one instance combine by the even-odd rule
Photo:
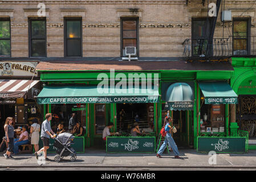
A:
<svg viewBox="0 0 256 182">
<path fill-rule="evenodd" d="M 225 105 L 204 104 L 201 99 L 200 128 L 201 133 L 225 132 Z"/>
</svg>

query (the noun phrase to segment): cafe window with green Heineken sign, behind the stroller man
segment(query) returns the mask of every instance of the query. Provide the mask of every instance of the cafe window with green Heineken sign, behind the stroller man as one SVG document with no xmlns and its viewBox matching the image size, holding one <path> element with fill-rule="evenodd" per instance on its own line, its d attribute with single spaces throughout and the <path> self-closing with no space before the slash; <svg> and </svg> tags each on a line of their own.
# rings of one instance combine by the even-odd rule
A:
<svg viewBox="0 0 256 182">
<path fill-rule="evenodd" d="M 83 133 L 86 131 L 86 104 L 53 104 L 51 105 L 51 129 L 56 132 L 59 123 L 63 123 L 64 130 L 68 131 L 68 123 L 72 113 L 75 113 L 75 122 L 80 122 Z"/>
</svg>

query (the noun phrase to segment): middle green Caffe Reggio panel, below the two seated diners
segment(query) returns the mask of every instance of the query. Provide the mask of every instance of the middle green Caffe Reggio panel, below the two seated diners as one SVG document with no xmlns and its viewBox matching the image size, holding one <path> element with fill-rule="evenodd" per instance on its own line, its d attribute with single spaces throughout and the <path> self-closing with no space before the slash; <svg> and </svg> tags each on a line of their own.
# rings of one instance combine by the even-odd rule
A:
<svg viewBox="0 0 256 182">
<path fill-rule="evenodd" d="M 107 152 L 154 153 L 156 137 L 107 137 Z"/>
</svg>

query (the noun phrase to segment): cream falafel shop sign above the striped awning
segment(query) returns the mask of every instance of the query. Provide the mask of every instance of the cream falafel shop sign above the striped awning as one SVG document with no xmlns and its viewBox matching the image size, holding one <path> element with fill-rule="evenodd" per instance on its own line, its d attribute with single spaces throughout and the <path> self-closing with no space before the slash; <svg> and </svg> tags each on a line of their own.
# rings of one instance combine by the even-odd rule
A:
<svg viewBox="0 0 256 182">
<path fill-rule="evenodd" d="M 37 64 L 38 61 L 0 61 L 0 74 L 6 77 L 37 77 Z"/>
</svg>

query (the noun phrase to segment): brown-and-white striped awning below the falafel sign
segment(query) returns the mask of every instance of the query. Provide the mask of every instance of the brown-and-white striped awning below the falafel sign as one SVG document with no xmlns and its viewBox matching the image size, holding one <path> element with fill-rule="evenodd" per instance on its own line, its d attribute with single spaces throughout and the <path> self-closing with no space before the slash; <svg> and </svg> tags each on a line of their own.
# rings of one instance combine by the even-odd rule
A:
<svg viewBox="0 0 256 182">
<path fill-rule="evenodd" d="M 22 98 L 39 80 L 0 80 L 0 98 Z"/>
</svg>

